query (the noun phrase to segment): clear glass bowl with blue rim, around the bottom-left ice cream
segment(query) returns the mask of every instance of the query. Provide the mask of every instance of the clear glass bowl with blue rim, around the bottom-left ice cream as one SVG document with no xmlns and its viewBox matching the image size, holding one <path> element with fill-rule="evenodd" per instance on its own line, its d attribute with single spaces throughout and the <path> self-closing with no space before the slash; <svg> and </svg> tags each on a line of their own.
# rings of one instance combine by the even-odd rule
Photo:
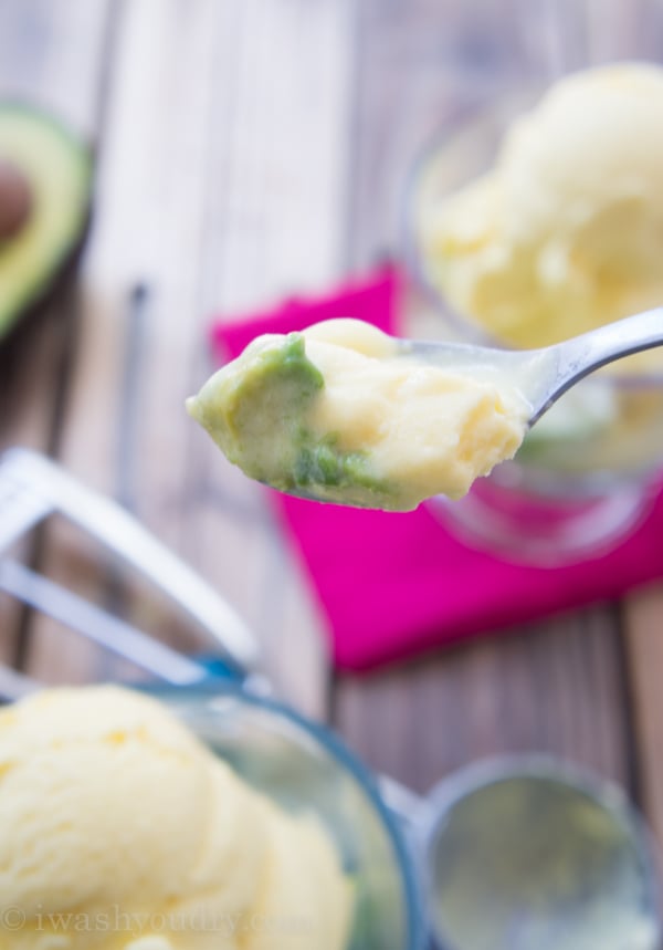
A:
<svg viewBox="0 0 663 950">
<path fill-rule="evenodd" d="M 414 855 L 373 779 L 332 732 L 232 683 L 149 692 L 253 786 L 323 822 L 355 894 L 348 950 L 424 950 Z"/>
</svg>

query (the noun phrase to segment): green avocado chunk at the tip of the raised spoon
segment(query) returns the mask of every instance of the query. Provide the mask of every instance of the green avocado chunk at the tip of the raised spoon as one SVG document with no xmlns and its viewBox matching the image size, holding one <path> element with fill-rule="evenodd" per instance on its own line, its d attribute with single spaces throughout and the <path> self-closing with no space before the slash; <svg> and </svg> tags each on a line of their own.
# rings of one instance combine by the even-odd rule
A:
<svg viewBox="0 0 663 950">
<path fill-rule="evenodd" d="M 309 413 L 325 380 L 306 356 L 305 338 L 251 351 L 221 369 L 187 408 L 228 459 L 250 478 L 288 494 L 375 508 L 393 502 L 370 457 L 344 450 L 336 432 L 317 432 Z"/>
</svg>

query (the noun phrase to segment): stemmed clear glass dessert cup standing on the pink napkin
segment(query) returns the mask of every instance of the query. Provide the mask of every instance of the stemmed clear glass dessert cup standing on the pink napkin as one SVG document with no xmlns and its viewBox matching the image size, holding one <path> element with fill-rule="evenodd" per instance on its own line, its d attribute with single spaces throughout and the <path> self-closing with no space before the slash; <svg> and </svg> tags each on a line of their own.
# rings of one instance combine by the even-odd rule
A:
<svg viewBox="0 0 663 950">
<path fill-rule="evenodd" d="M 445 300 L 424 246 L 430 208 L 491 168 L 511 122 L 540 96 L 527 90 L 448 128 L 415 160 L 403 208 L 404 255 L 440 315 L 440 337 L 508 346 Z M 430 504 L 471 546 L 523 563 L 599 556 L 640 523 L 663 479 L 663 369 L 620 364 L 583 380 L 532 430 L 516 458 L 459 501 Z"/>
</svg>

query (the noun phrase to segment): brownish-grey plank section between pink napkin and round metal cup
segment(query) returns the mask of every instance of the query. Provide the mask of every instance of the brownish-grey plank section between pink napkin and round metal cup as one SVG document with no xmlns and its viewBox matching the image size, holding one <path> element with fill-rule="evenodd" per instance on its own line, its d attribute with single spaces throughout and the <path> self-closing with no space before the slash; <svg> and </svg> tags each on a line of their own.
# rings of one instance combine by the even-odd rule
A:
<svg viewBox="0 0 663 950">
<path fill-rule="evenodd" d="M 371 765 L 428 791 L 469 762 L 559 755 L 627 786 L 624 686 L 609 609 L 344 678 L 336 724 Z"/>
</svg>

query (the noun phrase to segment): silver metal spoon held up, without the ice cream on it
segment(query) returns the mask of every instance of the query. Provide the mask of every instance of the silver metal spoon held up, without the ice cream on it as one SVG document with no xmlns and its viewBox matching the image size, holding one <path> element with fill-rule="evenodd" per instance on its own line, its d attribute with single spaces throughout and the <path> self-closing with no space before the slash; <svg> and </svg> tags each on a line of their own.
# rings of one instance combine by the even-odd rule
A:
<svg viewBox="0 0 663 950">
<path fill-rule="evenodd" d="M 663 345 L 663 307 L 627 316 L 540 349 L 497 349 L 465 343 L 399 340 L 398 352 L 454 372 L 507 379 L 530 406 L 529 427 L 567 389 L 607 363 Z"/>
</svg>

